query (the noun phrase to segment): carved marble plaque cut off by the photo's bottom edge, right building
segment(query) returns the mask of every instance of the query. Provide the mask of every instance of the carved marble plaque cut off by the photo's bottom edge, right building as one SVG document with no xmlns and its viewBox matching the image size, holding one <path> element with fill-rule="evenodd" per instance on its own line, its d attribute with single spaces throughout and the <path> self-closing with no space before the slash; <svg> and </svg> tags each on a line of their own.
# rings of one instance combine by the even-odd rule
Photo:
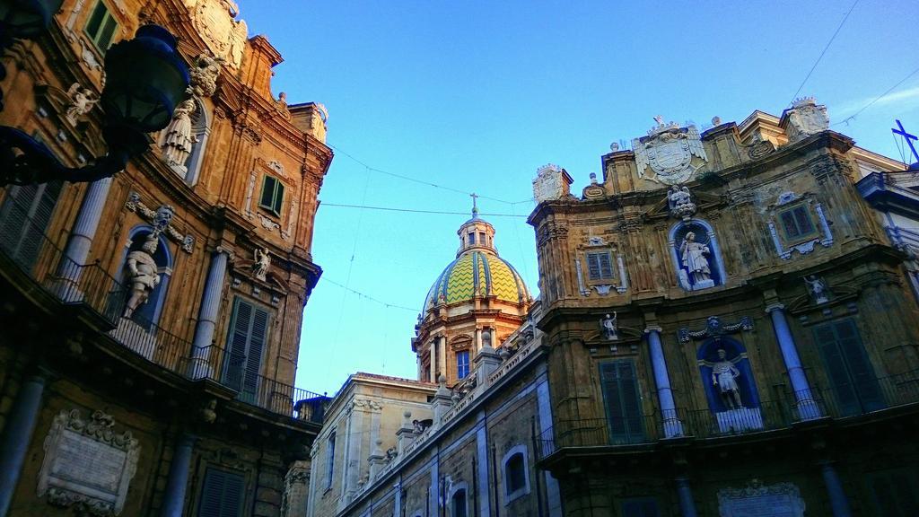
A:
<svg viewBox="0 0 919 517">
<path fill-rule="evenodd" d="M 791 483 L 765 486 L 755 481 L 746 488 L 718 492 L 720 517 L 803 517 L 804 500 Z"/>
</svg>

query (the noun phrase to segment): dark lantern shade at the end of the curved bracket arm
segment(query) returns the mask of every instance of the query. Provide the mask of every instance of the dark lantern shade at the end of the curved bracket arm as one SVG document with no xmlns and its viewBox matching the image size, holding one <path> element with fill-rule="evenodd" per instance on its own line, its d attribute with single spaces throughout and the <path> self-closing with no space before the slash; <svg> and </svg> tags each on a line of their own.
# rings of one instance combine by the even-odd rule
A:
<svg viewBox="0 0 919 517">
<path fill-rule="evenodd" d="M 102 107 L 112 125 L 159 131 L 187 97 L 188 82 L 188 67 L 176 52 L 176 37 L 157 25 L 145 25 L 133 40 L 108 49 Z"/>
</svg>

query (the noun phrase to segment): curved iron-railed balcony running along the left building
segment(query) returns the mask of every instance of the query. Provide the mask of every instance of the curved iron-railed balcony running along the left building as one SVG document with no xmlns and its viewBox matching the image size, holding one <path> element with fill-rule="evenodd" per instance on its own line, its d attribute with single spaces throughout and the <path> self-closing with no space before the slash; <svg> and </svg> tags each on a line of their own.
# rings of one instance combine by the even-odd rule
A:
<svg viewBox="0 0 919 517">
<path fill-rule="evenodd" d="M 128 290 L 98 263 L 76 264 L 40 228 L 25 228 L 17 242 L 0 239 L 0 273 L 37 304 L 57 305 L 108 339 L 166 371 L 190 381 L 210 379 L 236 392 L 236 399 L 292 419 L 322 424 L 330 397 L 257 373 L 236 373 L 232 357 L 212 345 L 193 353 L 190 341 L 151 322 L 121 317 Z M 63 239 L 62 239 L 63 240 Z M 244 358 L 242 358 L 244 361 Z"/>
</svg>

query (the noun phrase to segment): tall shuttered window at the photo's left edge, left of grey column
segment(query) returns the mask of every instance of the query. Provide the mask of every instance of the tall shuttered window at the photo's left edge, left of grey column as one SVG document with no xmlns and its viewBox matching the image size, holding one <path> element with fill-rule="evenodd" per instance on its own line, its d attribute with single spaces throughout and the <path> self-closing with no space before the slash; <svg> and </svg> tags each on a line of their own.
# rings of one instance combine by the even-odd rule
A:
<svg viewBox="0 0 919 517">
<path fill-rule="evenodd" d="M 0 206 L 0 249 L 20 267 L 31 270 L 39 259 L 41 238 L 61 195 L 61 181 L 13 187 Z"/>
</svg>

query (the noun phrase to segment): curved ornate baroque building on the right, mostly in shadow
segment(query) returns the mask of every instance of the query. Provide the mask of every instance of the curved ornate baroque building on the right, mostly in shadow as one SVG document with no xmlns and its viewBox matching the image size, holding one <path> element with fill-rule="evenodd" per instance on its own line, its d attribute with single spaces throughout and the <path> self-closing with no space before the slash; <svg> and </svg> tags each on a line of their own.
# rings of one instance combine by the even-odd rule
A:
<svg viewBox="0 0 919 517">
<path fill-rule="evenodd" d="M 612 151 L 529 218 L 564 513 L 917 514 L 915 173 L 813 99 Z"/>
</svg>

